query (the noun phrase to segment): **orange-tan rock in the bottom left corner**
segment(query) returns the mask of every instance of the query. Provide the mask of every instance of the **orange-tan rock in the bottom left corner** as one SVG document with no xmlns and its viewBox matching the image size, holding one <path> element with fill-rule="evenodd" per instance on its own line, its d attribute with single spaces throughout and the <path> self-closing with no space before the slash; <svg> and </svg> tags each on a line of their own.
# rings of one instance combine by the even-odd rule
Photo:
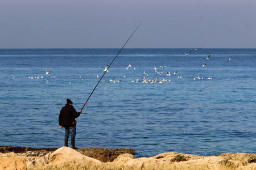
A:
<svg viewBox="0 0 256 170">
<path fill-rule="evenodd" d="M 26 170 L 26 161 L 16 156 L 0 158 L 0 170 Z"/>
</svg>

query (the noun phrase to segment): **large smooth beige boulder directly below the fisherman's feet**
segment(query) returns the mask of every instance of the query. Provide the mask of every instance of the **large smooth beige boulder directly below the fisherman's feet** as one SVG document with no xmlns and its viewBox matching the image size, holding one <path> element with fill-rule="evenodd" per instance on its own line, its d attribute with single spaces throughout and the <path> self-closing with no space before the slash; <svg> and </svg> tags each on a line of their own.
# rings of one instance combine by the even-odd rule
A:
<svg viewBox="0 0 256 170">
<path fill-rule="evenodd" d="M 70 147 L 58 148 L 55 152 L 49 155 L 49 164 L 64 164 L 64 163 L 83 163 L 101 165 L 100 160 L 82 155 Z"/>
</svg>

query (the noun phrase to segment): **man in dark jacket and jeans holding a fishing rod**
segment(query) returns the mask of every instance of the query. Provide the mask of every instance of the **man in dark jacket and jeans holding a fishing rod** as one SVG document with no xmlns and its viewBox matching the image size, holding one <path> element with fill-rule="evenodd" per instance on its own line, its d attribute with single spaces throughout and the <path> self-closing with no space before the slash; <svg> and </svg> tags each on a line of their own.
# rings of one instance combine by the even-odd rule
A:
<svg viewBox="0 0 256 170">
<path fill-rule="evenodd" d="M 76 118 L 80 116 L 82 111 L 76 112 L 73 108 L 73 102 L 67 99 L 67 104 L 61 109 L 59 115 L 60 128 L 65 128 L 65 143 L 64 146 L 68 146 L 68 138 L 71 136 L 71 147 L 75 147 L 75 136 L 76 136 Z M 76 148 L 77 149 L 77 148 Z"/>
</svg>

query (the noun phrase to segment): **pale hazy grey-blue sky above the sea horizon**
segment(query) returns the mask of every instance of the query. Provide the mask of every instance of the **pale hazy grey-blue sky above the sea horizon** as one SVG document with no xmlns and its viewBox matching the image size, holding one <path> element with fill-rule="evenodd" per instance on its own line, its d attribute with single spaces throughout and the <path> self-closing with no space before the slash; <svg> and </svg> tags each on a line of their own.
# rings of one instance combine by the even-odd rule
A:
<svg viewBox="0 0 256 170">
<path fill-rule="evenodd" d="M 0 0 L 0 48 L 256 48 L 255 0 Z"/>
</svg>

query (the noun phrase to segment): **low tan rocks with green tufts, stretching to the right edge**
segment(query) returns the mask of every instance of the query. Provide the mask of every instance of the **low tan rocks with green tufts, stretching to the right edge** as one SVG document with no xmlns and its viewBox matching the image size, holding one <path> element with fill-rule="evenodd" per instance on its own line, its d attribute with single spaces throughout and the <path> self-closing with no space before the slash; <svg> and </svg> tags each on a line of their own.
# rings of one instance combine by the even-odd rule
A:
<svg viewBox="0 0 256 170">
<path fill-rule="evenodd" d="M 219 156 L 199 156 L 166 152 L 150 158 L 135 159 L 131 154 L 118 156 L 110 167 L 131 169 L 256 169 L 256 154 L 221 154 Z"/>
</svg>

